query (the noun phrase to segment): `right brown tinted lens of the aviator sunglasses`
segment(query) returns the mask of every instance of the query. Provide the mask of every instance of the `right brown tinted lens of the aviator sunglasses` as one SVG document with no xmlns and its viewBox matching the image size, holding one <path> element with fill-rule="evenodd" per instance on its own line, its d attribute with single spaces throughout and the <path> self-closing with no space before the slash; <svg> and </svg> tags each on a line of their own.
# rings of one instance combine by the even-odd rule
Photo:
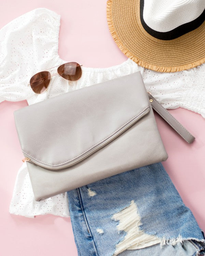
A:
<svg viewBox="0 0 205 256">
<path fill-rule="evenodd" d="M 58 67 L 58 74 L 69 81 L 77 81 L 82 76 L 82 69 L 77 62 L 68 62 Z"/>
</svg>

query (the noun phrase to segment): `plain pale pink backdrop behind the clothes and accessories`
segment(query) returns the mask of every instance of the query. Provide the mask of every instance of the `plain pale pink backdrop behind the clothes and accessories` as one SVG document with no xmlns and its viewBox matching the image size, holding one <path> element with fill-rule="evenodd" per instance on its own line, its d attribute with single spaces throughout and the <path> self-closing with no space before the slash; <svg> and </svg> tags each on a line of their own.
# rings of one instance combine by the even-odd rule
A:
<svg viewBox="0 0 205 256">
<path fill-rule="evenodd" d="M 106 0 L 1 1 L 0 27 L 39 7 L 46 7 L 61 15 L 61 59 L 75 60 L 86 67 L 109 67 L 127 59 L 109 33 Z M 0 103 L 0 254 L 75 256 L 77 249 L 69 218 L 45 215 L 30 219 L 9 214 L 16 174 L 23 158 L 13 111 L 26 105 L 26 101 Z M 192 210 L 201 229 L 205 230 L 205 120 L 199 114 L 182 108 L 170 110 L 170 113 L 195 135 L 196 140 L 189 145 L 156 116 L 169 155 L 163 165 L 183 202 Z"/>
</svg>

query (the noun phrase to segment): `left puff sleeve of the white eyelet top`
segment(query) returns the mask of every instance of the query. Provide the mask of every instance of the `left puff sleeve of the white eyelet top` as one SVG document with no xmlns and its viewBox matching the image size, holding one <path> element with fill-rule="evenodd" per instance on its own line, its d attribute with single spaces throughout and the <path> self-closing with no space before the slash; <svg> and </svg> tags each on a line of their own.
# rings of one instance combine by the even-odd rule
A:
<svg viewBox="0 0 205 256">
<path fill-rule="evenodd" d="M 31 76 L 52 65 L 58 51 L 60 15 L 32 10 L 0 29 L 0 102 L 28 99 Z"/>
</svg>

